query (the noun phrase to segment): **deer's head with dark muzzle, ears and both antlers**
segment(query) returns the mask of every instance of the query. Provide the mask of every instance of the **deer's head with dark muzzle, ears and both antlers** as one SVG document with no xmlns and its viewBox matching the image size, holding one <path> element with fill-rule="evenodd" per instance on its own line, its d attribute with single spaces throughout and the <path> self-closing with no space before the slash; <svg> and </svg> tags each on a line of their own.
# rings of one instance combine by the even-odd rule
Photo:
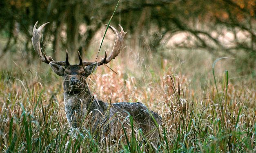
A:
<svg viewBox="0 0 256 153">
<path fill-rule="evenodd" d="M 122 49 L 122 44 L 124 42 L 125 34 L 122 26 L 120 26 L 121 31 L 117 31 L 113 26 L 109 26 L 111 30 L 116 35 L 116 40 L 114 47 L 112 49 L 111 55 L 107 57 L 107 53 L 105 51 L 105 57 L 100 62 L 88 62 L 88 61 L 82 61 L 82 57 L 80 53 L 78 52 L 79 57 L 79 64 L 78 65 L 71 65 L 69 63 L 69 57 L 68 52 L 66 51 L 66 60 L 65 61 L 54 61 L 52 57 L 46 56 L 44 52 L 42 52 L 41 46 L 40 46 L 40 39 L 42 37 L 42 30 L 49 22 L 42 24 L 38 29 L 36 22 L 34 28 L 33 28 L 33 37 L 32 37 L 32 45 L 34 50 L 37 52 L 37 54 L 40 57 L 40 60 L 42 62 L 45 62 L 49 64 L 52 68 L 52 70 L 59 76 L 64 77 L 64 90 L 65 92 L 80 92 L 81 90 L 85 89 L 87 86 L 85 79 L 94 71 L 97 69 L 98 66 L 101 66 L 103 64 L 109 63 L 112 59 L 115 59 L 115 57 L 120 53 L 120 50 Z"/>
</svg>

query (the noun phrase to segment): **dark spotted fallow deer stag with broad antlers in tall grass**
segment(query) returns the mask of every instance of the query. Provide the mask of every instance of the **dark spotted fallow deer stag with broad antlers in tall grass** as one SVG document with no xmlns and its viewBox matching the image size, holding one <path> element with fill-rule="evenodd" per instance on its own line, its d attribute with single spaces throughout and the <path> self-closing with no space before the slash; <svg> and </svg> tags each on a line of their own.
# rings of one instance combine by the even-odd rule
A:
<svg viewBox="0 0 256 153">
<path fill-rule="evenodd" d="M 48 22 L 49 23 L 49 22 Z M 129 117 L 132 116 L 136 126 L 142 129 L 143 133 L 154 148 L 159 141 L 159 131 L 157 125 L 161 124 L 160 116 L 154 111 L 147 109 L 142 103 L 105 103 L 104 101 L 96 100 L 92 96 L 86 82 L 86 78 L 98 66 L 109 63 L 122 50 L 122 44 L 125 38 L 125 32 L 120 26 L 121 31 L 117 31 L 114 27 L 109 26 L 116 35 L 115 44 L 111 55 L 100 62 L 82 61 L 78 52 L 79 64 L 71 65 L 69 63 L 68 53 L 66 52 L 65 61 L 54 61 L 50 56 L 46 56 L 42 52 L 40 39 L 42 30 L 48 23 L 41 25 L 38 29 L 36 22 L 33 28 L 32 44 L 42 62 L 49 64 L 52 70 L 59 76 L 64 78 L 64 101 L 66 117 L 71 127 L 86 127 L 83 124 L 86 116 L 90 116 L 91 133 L 94 133 L 98 138 L 110 137 L 115 140 L 118 134 L 122 134 L 125 129 L 128 133 L 131 131 Z M 156 124 L 157 123 L 157 124 Z M 86 128 L 87 128 L 86 127 Z"/>
</svg>

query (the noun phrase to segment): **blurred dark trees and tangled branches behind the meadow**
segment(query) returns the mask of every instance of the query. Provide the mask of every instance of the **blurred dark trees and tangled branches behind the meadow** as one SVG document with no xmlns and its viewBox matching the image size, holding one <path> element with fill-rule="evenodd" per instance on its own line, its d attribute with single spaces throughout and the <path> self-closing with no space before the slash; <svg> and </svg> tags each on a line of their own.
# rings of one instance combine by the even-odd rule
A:
<svg viewBox="0 0 256 153">
<path fill-rule="evenodd" d="M 93 38 L 105 29 L 117 2 L 1 0 L 0 58 L 19 55 L 20 60 L 31 62 L 36 56 L 31 45 L 36 21 L 39 25 L 51 22 L 45 28 L 44 42 L 49 48 L 47 54 L 53 59 L 63 60 L 66 49 L 71 54 L 78 50 L 85 54 L 92 50 L 90 46 L 96 46 L 93 51 L 97 52 L 100 45 L 93 44 Z M 126 46 L 132 51 L 171 59 L 173 50 L 200 49 L 211 55 L 234 58 L 240 74 L 255 75 L 255 3 L 254 0 L 121 0 L 111 25 L 120 24 L 128 32 Z"/>
</svg>

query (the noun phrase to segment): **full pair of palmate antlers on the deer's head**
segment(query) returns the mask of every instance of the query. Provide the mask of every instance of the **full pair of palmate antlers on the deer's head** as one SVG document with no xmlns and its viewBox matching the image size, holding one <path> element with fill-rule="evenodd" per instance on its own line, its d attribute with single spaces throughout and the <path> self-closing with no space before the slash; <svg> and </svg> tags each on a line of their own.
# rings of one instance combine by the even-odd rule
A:
<svg viewBox="0 0 256 153">
<path fill-rule="evenodd" d="M 52 57 L 50 56 L 46 56 L 45 53 L 42 53 L 42 48 L 40 46 L 40 39 L 42 37 L 42 30 L 45 27 L 45 25 L 47 25 L 49 22 L 41 25 L 38 29 L 36 29 L 38 21 L 36 22 L 34 28 L 33 28 L 33 37 L 32 37 L 32 45 L 34 50 L 36 50 L 37 54 L 40 57 L 40 60 L 42 62 L 45 62 L 47 64 L 49 64 L 50 62 L 58 64 L 60 66 L 69 66 L 69 57 L 68 57 L 68 53 L 66 51 L 66 61 L 54 61 L 52 59 Z M 119 25 L 119 24 L 118 24 Z M 119 25 L 120 26 L 120 25 Z M 113 26 L 109 26 L 111 28 L 111 30 L 115 33 L 116 35 L 116 40 L 115 40 L 115 44 L 114 47 L 112 49 L 111 55 L 109 55 L 109 57 L 107 58 L 107 53 L 105 51 L 105 58 L 102 59 L 102 61 L 99 62 L 99 66 L 102 64 L 107 64 L 109 63 L 109 61 L 111 61 L 112 59 L 115 59 L 115 57 L 120 53 L 120 51 L 122 50 L 122 44 L 125 40 L 125 34 L 126 32 L 124 32 L 122 26 L 120 26 L 121 31 L 118 32 Z M 82 66 L 89 66 L 90 64 L 94 63 L 94 62 L 88 62 L 88 61 L 82 61 L 82 57 L 80 55 L 80 53 L 78 52 L 78 57 L 79 57 L 79 65 Z"/>
</svg>

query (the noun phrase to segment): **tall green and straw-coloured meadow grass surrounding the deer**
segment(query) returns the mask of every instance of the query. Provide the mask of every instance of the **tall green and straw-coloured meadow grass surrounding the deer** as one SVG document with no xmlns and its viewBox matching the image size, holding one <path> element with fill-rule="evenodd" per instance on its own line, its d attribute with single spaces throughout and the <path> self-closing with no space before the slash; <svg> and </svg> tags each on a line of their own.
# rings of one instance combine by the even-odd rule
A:
<svg viewBox="0 0 256 153">
<path fill-rule="evenodd" d="M 90 50 L 84 58 L 96 57 L 97 48 Z M 128 46 L 108 64 L 118 74 L 101 66 L 91 76 L 91 91 L 107 103 L 140 101 L 160 114 L 157 152 L 255 152 L 255 74 L 238 72 L 237 59 L 216 61 L 202 50 L 162 51 L 169 57 Z M 30 64 L 22 58 L 2 63 L 0 152 L 152 151 L 140 129 L 124 136 L 128 143 L 114 144 L 94 139 L 88 129 L 71 129 L 62 78 L 37 57 Z"/>
</svg>

